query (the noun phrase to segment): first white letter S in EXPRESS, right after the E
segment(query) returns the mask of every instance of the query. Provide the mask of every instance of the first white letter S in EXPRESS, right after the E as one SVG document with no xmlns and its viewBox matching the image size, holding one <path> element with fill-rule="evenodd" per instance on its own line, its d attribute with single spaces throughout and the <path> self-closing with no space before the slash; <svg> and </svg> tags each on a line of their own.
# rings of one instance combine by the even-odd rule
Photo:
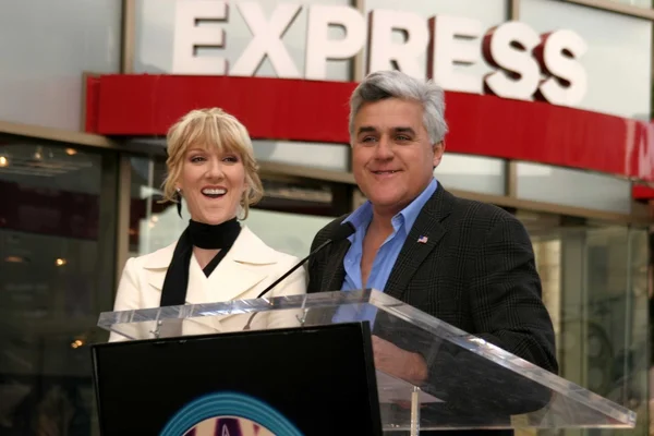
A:
<svg viewBox="0 0 654 436">
<path fill-rule="evenodd" d="M 499 97 L 529 100 L 538 87 L 541 70 L 531 51 L 541 38 L 526 24 L 510 22 L 497 26 L 484 37 L 484 56 L 504 71 L 487 74 L 488 90 Z"/>
</svg>

